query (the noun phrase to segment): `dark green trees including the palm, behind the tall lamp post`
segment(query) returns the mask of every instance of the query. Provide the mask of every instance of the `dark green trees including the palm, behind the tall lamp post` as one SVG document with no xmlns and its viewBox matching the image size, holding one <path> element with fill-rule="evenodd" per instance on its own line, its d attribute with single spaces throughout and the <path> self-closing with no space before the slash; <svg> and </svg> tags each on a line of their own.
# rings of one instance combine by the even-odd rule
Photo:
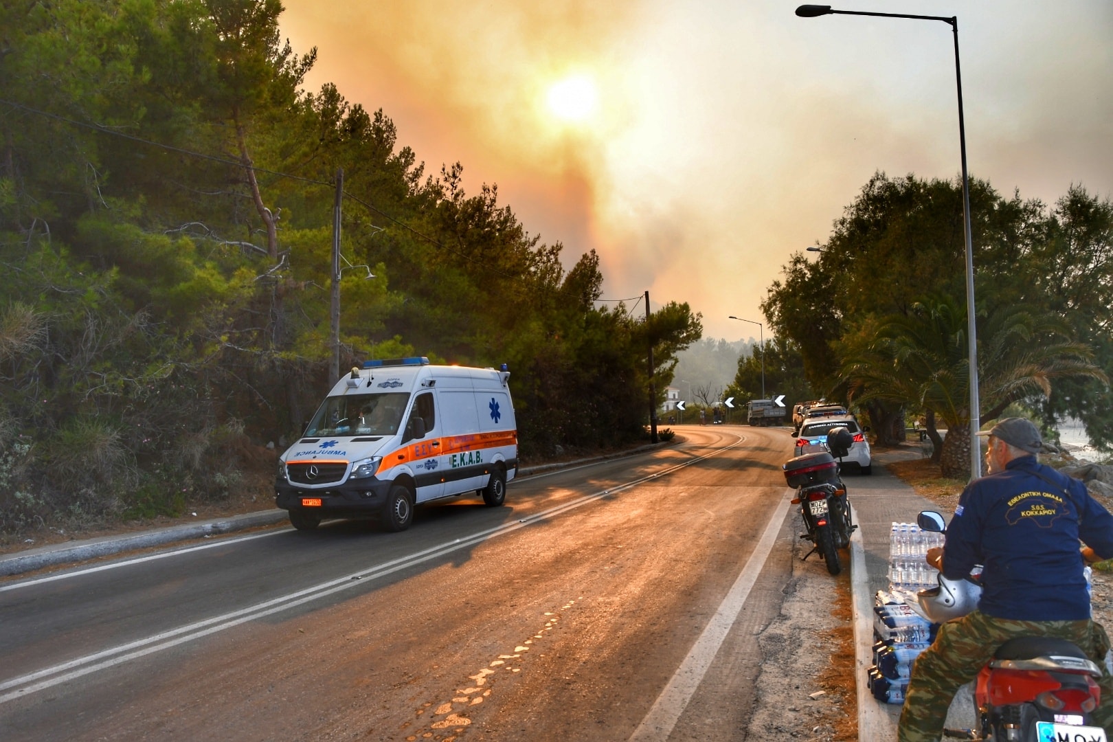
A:
<svg viewBox="0 0 1113 742">
<path fill-rule="evenodd" d="M 1113 204 L 1083 188 L 1048 209 L 971 182 L 979 417 L 1012 403 L 1048 425 L 1080 417 L 1113 442 L 1109 378 Z M 969 386 L 961 184 L 875 175 L 835 222 L 818 261 L 785 267 L 762 309 L 798 344 L 815 388 L 866 407 L 875 431 L 903 412 L 948 428 L 936 452 L 968 461 Z M 899 421 L 883 419 L 897 413 Z M 929 425 L 934 431 L 934 424 Z M 933 433 L 934 435 L 934 433 Z"/>
</svg>

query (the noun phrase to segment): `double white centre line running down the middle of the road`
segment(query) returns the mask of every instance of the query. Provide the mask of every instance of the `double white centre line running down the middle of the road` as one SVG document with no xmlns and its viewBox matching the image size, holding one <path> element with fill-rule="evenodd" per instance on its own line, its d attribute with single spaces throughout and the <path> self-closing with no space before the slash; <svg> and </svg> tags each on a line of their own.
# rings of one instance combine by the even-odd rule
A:
<svg viewBox="0 0 1113 742">
<path fill-rule="evenodd" d="M 354 572 L 347 574 L 343 577 L 336 577 L 327 582 L 323 582 L 318 585 L 313 585 L 304 590 L 299 590 L 287 595 L 282 595 L 279 597 L 272 598 L 269 601 L 264 601 L 263 603 L 256 603 L 255 605 L 240 609 L 238 611 L 233 611 L 230 613 L 225 613 L 223 615 L 213 616 L 204 621 L 198 621 L 185 626 L 179 626 L 170 631 L 166 631 L 154 636 L 147 636 L 145 639 L 137 640 L 135 642 L 129 642 L 127 644 L 121 644 L 95 654 L 89 654 L 83 657 L 78 657 L 69 662 L 65 662 L 52 667 L 46 667 L 43 670 L 21 675 L 19 677 L 12 677 L 10 680 L 0 682 L 0 691 L 8 691 L 3 695 L 0 695 L 0 704 L 7 703 L 14 699 L 27 698 L 29 694 L 37 691 L 41 691 L 61 683 L 68 682 L 76 677 L 82 675 L 88 675 L 89 673 L 97 672 L 99 670 L 105 670 L 112 667 L 115 665 L 129 662 L 131 660 L 137 660 L 139 657 L 146 656 L 148 654 L 154 654 L 155 652 L 160 652 L 162 650 L 169 649 L 171 646 L 177 646 L 185 642 L 190 642 L 209 634 L 214 634 L 226 629 L 232 629 L 233 626 L 238 626 L 242 623 L 248 621 L 254 621 L 256 619 L 262 619 L 264 616 L 270 615 L 273 613 L 278 613 L 280 611 L 287 611 L 289 609 L 309 603 L 312 601 L 321 600 L 334 593 L 339 593 L 345 590 L 351 590 L 352 587 L 357 587 L 366 582 L 384 577 L 386 575 L 398 572 L 400 570 L 405 570 L 417 564 L 422 564 L 433 558 L 444 556 L 445 554 L 451 554 L 452 552 L 459 551 L 461 548 L 467 548 L 469 546 L 474 546 L 484 541 L 494 538 L 495 536 L 501 536 L 519 528 L 523 528 L 526 525 L 544 521 L 548 518 L 555 517 L 567 513 L 568 511 L 574 509 L 588 503 L 594 502 L 602 497 L 608 497 L 615 493 L 622 492 L 624 489 L 630 489 L 639 484 L 657 479 L 667 474 L 671 474 L 679 469 L 682 469 L 692 464 L 699 463 L 705 458 L 710 458 L 711 456 L 717 456 L 718 454 L 737 446 L 742 442 L 739 438 L 738 442 L 720 448 L 710 454 L 692 458 L 691 461 L 684 462 L 682 464 L 677 464 L 670 466 L 669 468 L 657 472 L 654 474 L 649 474 L 647 476 L 633 479 L 626 484 L 615 485 L 610 489 L 603 489 L 591 495 L 584 495 L 577 499 L 573 499 L 561 505 L 556 505 L 546 511 L 540 513 L 534 513 L 526 517 L 521 518 L 516 523 L 510 523 L 501 525 L 494 528 L 487 528 L 485 531 L 480 531 L 473 533 L 464 538 L 456 538 L 451 542 L 445 542 L 436 546 L 431 546 L 415 554 L 410 554 L 402 556 L 390 562 L 384 562 L 383 564 L 371 566 L 366 570 L 361 570 L 359 572 Z M 260 534 L 262 535 L 262 534 Z M 206 544 L 205 546 L 211 546 L 215 544 Z M 198 547 L 199 548 L 199 547 Z M 167 554 L 170 556 L 173 554 L 178 554 L 180 552 L 173 552 Z M 106 565 L 108 566 L 108 565 Z M 38 682 L 37 682 L 38 681 Z"/>
</svg>

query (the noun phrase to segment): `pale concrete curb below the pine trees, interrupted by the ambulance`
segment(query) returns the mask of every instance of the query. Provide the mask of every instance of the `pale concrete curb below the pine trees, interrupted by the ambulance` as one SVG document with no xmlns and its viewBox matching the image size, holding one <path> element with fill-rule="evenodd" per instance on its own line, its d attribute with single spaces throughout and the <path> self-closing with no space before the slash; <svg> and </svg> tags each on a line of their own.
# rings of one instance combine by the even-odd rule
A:
<svg viewBox="0 0 1113 742">
<path fill-rule="evenodd" d="M 518 474 L 519 476 L 544 474 L 546 472 L 558 471 L 569 466 L 581 466 L 612 458 L 621 458 L 623 456 L 632 456 L 634 454 L 653 451 L 666 445 L 669 445 L 669 443 L 647 444 L 630 451 L 604 454 L 602 456 L 592 456 L 590 458 L 580 458 L 560 464 L 540 464 L 538 466 L 528 466 L 520 468 Z M 99 556 L 111 556 L 114 554 L 130 552 L 137 548 L 165 546 L 179 541 L 206 538 L 209 536 L 235 533 L 237 531 L 246 531 L 248 528 L 275 525 L 284 523 L 286 520 L 286 511 L 273 508 L 256 513 L 246 513 L 244 515 L 234 515 L 225 518 L 205 521 L 201 523 L 190 523 L 189 525 L 170 526 L 168 528 L 156 528 L 152 531 L 140 531 L 127 535 L 101 536 L 99 538 L 89 538 L 87 541 L 75 541 L 68 544 L 40 546 L 38 548 L 30 548 L 23 552 L 0 556 L 0 577 L 10 577 L 27 572 L 33 572 L 35 570 L 41 570 L 42 567 L 58 566 L 59 564 L 85 562 Z"/>
</svg>

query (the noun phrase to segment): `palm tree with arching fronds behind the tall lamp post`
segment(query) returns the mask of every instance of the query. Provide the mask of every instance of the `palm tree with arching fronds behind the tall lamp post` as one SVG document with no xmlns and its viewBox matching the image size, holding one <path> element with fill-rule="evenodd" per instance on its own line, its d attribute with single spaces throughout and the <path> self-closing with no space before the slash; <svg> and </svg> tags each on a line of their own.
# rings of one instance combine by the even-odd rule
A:
<svg viewBox="0 0 1113 742">
<path fill-rule="evenodd" d="M 1034 394 L 1051 394 L 1052 379 L 1089 376 L 1105 380 L 1090 347 L 1050 315 L 997 307 L 978 327 L 978 379 L 983 422 Z M 859 333 L 844 346 L 841 377 L 856 399 L 903 403 L 923 409 L 933 459 L 944 476 L 966 476 L 969 457 L 969 359 L 966 310 L 948 296 L 929 296 L 906 315 L 878 323 L 871 339 Z M 936 419 L 947 436 L 936 431 Z"/>
</svg>

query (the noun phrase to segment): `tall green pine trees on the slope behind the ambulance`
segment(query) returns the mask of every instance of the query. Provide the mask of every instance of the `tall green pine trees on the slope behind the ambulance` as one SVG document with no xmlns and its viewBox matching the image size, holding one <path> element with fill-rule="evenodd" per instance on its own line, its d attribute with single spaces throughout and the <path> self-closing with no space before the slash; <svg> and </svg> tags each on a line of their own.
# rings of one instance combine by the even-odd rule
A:
<svg viewBox="0 0 1113 742">
<path fill-rule="evenodd" d="M 391 119 L 303 89 L 278 0 L 0 8 L 0 527 L 234 489 L 342 363 L 508 363 L 529 461 L 643 435 L 699 315 L 600 307 L 594 253 L 526 231 Z M 374 276 L 373 278 L 371 276 Z M 170 493 L 165 496 L 159 493 Z"/>
</svg>

